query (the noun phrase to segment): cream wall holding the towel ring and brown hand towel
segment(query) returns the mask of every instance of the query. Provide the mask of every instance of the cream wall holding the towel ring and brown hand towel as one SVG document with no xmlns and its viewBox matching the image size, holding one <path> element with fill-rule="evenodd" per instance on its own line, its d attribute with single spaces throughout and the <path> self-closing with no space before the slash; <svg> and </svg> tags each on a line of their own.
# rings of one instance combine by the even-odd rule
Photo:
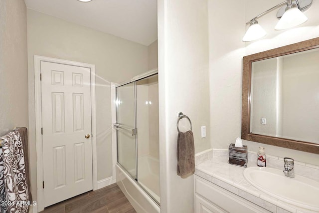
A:
<svg viewBox="0 0 319 213">
<path fill-rule="evenodd" d="M 210 148 L 210 132 L 200 135 L 210 128 L 207 12 L 207 0 L 158 0 L 161 213 L 194 212 L 193 176 L 176 175 L 178 112 L 192 122 L 195 153 Z"/>
</svg>

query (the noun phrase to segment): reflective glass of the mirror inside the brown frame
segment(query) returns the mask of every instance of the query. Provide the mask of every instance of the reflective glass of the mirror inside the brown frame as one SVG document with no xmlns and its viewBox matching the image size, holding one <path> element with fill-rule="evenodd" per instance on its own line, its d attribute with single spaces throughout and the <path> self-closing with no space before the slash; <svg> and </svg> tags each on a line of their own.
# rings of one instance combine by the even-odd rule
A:
<svg viewBox="0 0 319 213">
<path fill-rule="evenodd" d="M 250 133 L 319 144 L 319 48 L 251 63 Z"/>
</svg>

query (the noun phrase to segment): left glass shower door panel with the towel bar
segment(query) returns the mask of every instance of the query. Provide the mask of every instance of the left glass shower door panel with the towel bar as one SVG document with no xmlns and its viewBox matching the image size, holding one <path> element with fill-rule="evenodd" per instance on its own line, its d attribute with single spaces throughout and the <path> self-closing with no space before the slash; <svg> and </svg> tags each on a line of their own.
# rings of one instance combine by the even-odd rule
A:
<svg viewBox="0 0 319 213">
<path fill-rule="evenodd" d="M 135 121 L 135 83 L 116 88 L 118 162 L 137 179 L 136 166 L 136 121 Z"/>
</svg>

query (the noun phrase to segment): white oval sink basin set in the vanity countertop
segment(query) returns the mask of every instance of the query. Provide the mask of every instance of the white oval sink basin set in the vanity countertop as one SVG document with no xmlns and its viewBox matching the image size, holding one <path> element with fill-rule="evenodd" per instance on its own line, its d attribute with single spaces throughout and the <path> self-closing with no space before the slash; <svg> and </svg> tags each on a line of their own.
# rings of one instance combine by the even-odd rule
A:
<svg viewBox="0 0 319 213">
<path fill-rule="evenodd" d="M 281 201 L 319 211 L 319 182 L 300 175 L 289 178 L 282 170 L 267 167 L 247 168 L 244 177 L 254 187 Z"/>
</svg>

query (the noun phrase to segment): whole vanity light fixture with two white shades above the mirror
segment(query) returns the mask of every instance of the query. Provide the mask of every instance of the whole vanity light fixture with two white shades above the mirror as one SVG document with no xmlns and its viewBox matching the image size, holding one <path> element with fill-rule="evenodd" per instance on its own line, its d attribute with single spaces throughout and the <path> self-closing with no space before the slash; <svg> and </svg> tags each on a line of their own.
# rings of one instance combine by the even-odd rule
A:
<svg viewBox="0 0 319 213">
<path fill-rule="evenodd" d="M 303 12 L 311 6 L 312 2 L 313 0 L 285 0 L 260 13 L 246 23 L 246 25 L 249 24 L 249 28 L 243 37 L 243 41 L 252 41 L 264 37 L 266 31 L 258 24 L 256 19 L 281 6 L 283 7 L 277 12 L 277 18 L 280 20 L 275 26 L 276 30 L 288 29 L 306 22 L 308 18 Z"/>
</svg>

